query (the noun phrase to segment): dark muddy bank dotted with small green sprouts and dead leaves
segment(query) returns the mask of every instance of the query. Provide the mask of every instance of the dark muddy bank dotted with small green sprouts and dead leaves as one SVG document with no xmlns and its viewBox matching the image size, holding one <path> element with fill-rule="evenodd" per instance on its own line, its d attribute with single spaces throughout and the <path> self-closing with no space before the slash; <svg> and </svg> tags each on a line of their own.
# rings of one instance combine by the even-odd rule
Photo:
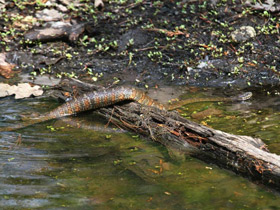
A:
<svg viewBox="0 0 280 210">
<path fill-rule="evenodd" d="M 0 46 L 19 75 L 34 79 L 47 74 L 105 86 L 274 86 L 280 83 L 278 6 L 127 0 L 98 9 L 94 2 L 7 0 Z"/>
</svg>

